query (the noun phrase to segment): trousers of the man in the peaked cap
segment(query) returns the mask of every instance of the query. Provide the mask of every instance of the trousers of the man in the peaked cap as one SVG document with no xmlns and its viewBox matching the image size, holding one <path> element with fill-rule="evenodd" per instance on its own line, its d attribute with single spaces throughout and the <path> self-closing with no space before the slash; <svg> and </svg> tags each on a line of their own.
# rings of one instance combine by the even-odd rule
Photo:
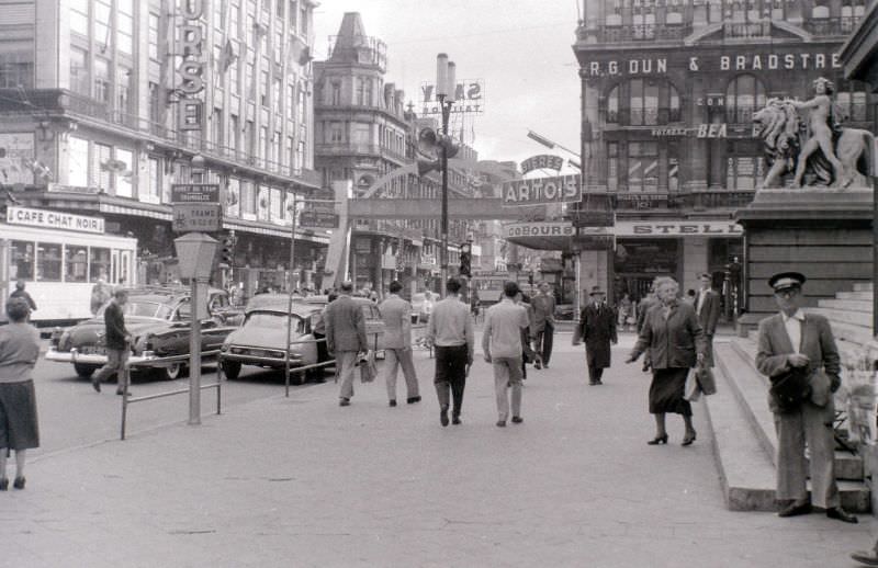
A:
<svg viewBox="0 0 878 568">
<path fill-rule="evenodd" d="M 838 507 L 834 414 L 832 401 L 823 408 L 809 401 L 792 412 L 775 413 L 778 501 L 806 499 L 810 473 L 811 503 L 824 509 Z M 810 461 L 804 457 L 806 442 Z"/>
</svg>

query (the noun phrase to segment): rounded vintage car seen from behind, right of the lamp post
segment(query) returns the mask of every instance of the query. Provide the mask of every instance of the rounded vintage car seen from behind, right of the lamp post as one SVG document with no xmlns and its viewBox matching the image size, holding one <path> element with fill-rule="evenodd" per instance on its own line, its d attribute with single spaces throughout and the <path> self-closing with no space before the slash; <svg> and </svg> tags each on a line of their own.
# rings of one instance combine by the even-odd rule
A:
<svg viewBox="0 0 878 568">
<path fill-rule="evenodd" d="M 257 300 L 257 298 L 259 298 Z M 383 331 L 383 321 L 378 306 L 365 298 L 353 298 L 360 304 L 365 316 L 367 334 L 370 342 L 375 334 Z M 289 297 L 281 294 L 262 294 L 254 296 L 247 306 L 244 323 L 223 342 L 219 361 L 227 378 L 235 379 L 240 374 L 241 365 L 255 365 L 282 371 L 288 356 L 286 322 L 291 318 L 289 344 L 292 380 L 296 384 L 305 379 L 323 377 L 324 367 L 312 367 L 316 364 L 317 344 L 314 342 L 313 328 L 326 306 L 325 296 L 293 298 L 290 307 Z M 371 345 L 370 345 L 371 347 Z"/>
</svg>

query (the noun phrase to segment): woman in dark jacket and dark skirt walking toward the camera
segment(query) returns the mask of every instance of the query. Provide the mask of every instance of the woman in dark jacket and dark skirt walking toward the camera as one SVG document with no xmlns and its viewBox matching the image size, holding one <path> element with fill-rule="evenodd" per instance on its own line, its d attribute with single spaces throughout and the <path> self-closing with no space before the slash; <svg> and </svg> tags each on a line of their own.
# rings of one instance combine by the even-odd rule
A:
<svg viewBox="0 0 878 568">
<path fill-rule="evenodd" d="M 689 370 L 700 363 L 707 353 L 705 332 L 698 323 L 695 308 L 677 298 L 679 285 L 674 279 L 655 281 L 658 304 L 652 306 L 643 318 L 643 327 L 631 355 L 626 363 L 633 363 L 649 350 L 652 364 L 650 385 L 650 413 L 655 416 L 655 438 L 650 445 L 666 444 L 665 413 L 683 416 L 686 435 L 683 445 L 695 442 L 693 407 L 684 398 Z"/>
</svg>

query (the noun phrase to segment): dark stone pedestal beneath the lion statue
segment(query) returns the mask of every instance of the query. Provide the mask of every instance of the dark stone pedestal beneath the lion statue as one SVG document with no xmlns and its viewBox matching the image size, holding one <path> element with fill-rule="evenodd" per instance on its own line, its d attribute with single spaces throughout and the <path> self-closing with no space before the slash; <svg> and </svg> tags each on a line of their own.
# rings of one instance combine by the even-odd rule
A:
<svg viewBox="0 0 878 568">
<path fill-rule="evenodd" d="M 759 190 L 735 218 L 744 227 L 741 334 L 777 311 L 767 283 L 776 272 L 806 275 L 804 307 L 873 280 L 871 189 Z"/>
</svg>

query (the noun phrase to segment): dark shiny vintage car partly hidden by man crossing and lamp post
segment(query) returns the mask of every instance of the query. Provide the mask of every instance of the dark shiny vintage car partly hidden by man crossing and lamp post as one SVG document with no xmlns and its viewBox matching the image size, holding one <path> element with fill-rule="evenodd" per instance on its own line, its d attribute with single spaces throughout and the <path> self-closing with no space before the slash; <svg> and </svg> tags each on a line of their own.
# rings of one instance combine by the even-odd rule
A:
<svg viewBox="0 0 878 568">
<path fill-rule="evenodd" d="M 223 340 L 237 326 L 227 321 L 243 318 L 235 315 L 224 289 L 209 288 L 205 298 L 207 319 L 202 320 L 202 350 L 219 349 Z M 106 363 L 105 326 L 103 306 L 98 315 L 66 330 L 57 329 L 52 336 L 46 360 L 72 363 L 77 375 L 88 378 Z M 189 288 L 149 287 L 128 291 L 125 304 L 125 328 L 132 334 L 131 356 L 133 371 L 153 371 L 160 378 L 173 379 L 180 375 L 185 362 L 161 362 L 160 357 L 189 353 L 191 337 L 191 302 Z"/>
</svg>

